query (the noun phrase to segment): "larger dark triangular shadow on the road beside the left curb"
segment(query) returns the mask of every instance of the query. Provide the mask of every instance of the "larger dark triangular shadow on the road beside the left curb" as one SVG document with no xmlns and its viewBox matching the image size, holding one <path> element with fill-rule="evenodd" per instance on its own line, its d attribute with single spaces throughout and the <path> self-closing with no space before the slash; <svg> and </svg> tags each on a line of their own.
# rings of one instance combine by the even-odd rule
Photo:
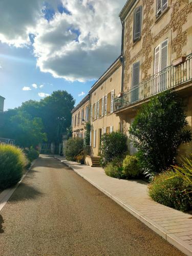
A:
<svg viewBox="0 0 192 256">
<path fill-rule="evenodd" d="M 9 202 L 31 200 L 42 195 L 43 193 L 41 193 L 35 186 L 21 183 L 9 199 Z"/>
</svg>

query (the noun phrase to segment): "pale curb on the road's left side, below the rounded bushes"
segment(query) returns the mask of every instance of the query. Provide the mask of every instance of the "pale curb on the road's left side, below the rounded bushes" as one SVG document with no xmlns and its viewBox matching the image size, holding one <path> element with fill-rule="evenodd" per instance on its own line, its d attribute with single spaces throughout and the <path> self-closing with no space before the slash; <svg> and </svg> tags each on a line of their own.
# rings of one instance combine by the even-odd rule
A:
<svg viewBox="0 0 192 256">
<path fill-rule="evenodd" d="M 22 176 L 22 179 L 14 186 L 11 188 L 7 188 L 5 190 L 3 190 L 0 193 L 0 212 L 3 209 L 3 207 L 6 205 L 7 201 L 9 200 L 9 198 L 13 195 L 15 189 L 18 187 L 18 185 L 23 181 L 23 179 L 26 177 L 26 175 L 28 174 L 28 172 L 30 171 L 30 169 L 33 167 L 33 165 L 35 164 L 37 159 L 33 160 L 31 163 L 31 166 L 29 167 L 29 169 L 27 170 L 27 172 Z"/>
</svg>

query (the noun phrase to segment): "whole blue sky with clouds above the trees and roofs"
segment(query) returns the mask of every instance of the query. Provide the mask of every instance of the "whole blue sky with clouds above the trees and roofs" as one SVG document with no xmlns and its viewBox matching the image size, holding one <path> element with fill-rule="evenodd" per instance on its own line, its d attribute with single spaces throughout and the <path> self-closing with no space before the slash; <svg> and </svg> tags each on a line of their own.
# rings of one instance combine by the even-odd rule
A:
<svg viewBox="0 0 192 256">
<path fill-rule="evenodd" d="M 120 55 L 125 0 L 0 0 L 5 108 L 66 90 L 76 104 Z"/>
</svg>

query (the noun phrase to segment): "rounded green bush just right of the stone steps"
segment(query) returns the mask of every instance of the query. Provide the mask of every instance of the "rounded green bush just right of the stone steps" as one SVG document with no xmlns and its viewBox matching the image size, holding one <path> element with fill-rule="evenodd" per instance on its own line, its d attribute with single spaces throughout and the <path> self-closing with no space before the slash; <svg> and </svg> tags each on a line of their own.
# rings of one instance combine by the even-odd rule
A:
<svg viewBox="0 0 192 256">
<path fill-rule="evenodd" d="M 114 158 L 121 157 L 127 152 L 127 137 L 121 132 L 103 134 L 101 137 L 101 166 L 104 167 L 112 162 Z"/>
</svg>

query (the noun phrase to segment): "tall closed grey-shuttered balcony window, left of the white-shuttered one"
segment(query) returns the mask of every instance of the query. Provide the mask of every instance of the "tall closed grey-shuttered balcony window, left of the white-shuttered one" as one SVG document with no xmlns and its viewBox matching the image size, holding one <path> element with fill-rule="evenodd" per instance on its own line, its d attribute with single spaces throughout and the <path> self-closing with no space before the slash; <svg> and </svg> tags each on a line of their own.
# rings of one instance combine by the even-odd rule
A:
<svg viewBox="0 0 192 256">
<path fill-rule="evenodd" d="M 135 102 L 139 99 L 139 68 L 140 61 L 133 64 L 131 102 Z"/>
</svg>

